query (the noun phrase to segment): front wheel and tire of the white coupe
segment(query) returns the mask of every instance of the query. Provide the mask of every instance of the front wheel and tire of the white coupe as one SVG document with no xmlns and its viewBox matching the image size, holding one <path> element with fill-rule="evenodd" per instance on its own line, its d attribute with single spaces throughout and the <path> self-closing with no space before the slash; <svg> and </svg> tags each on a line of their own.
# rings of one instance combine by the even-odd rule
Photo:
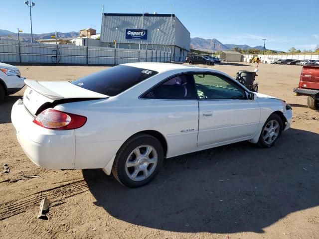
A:
<svg viewBox="0 0 319 239">
<path fill-rule="evenodd" d="M 272 114 L 264 123 L 258 145 L 262 148 L 272 147 L 283 131 L 283 120 L 277 114 Z"/>
</svg>

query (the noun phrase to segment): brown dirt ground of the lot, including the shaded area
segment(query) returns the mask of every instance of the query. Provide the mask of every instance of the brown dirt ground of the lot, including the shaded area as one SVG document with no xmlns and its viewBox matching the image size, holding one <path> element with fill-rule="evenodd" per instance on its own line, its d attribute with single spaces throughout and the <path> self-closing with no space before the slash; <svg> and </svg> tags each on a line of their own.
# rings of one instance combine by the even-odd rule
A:
<svg viewBox="0 0 319 239">
<path fill-rule="evenodd" d="M 18 67 L 35 80 L 73 80 L 105 68 Z M 255 64 L 211 68 L 234 76 Z M 10 172 L 0 174 L 0 238 L 319 239 L 319 113 L 293 94 L 301 67 L 261 64 L 259 70 L 259 92 L 293 107 L 292 127 L 274 147 L 241 142 L 167 159 L 157 178 L 139 189 L 125 188 L 99 169 L 34 165 L 10 120 L 23 90 L 6 97 L 0 164 Z M 51 201 L 47 221 L 36 218 L 43 197 Z"/>
</svg>

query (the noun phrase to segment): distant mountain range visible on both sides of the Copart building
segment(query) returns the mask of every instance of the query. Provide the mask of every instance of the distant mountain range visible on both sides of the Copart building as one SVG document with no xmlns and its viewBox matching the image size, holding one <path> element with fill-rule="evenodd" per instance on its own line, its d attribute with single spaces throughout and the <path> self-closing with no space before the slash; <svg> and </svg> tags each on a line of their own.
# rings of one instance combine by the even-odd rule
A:
<svg viewBox="0 0 319 239">
<path fill-rule="evenodd" d="M 19 33 L 20 41 L 31 41 L 31 34 L 30 33 Z M 55 35 L 55 32 L 49 33 L 42 33 L 42 34 L 33 34 L 33 40 L 40 40 L 40 39 L 51 39 L 51 36 Z M 58 38 L 76 38 L 79 36 L 78 31 L 70 31 L 70 32 L 58 32 Z M 1 30 L 0 29 L 0 38 L 1 39 L 11 39 L 17 40 L 18 34 L 8 30 Z M 223 44 L 217 39 L 204 39 L 200 37 L 190 38 L 190 47 L 196 50 L 204 50 L 204 51 L 223 51 L 223 50 L 230 50 L 234 47 L 238 47 L 241 49 L 252 49 L 256 48 L 258 50 L 262 50 L 263 46 L 255 46 L 250 47 L 249 45 L 236 45 L 236 44 Z M 267 49 L 266 49 L 267 50 Z"/>
</svg>

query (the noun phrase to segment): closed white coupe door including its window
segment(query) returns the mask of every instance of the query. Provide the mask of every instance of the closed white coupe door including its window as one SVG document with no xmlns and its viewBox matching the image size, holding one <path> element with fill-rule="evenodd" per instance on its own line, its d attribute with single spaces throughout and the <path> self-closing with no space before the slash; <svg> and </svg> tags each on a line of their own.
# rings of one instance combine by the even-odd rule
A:
<svg viewBox="0 0 319 239">
<path fill-rule="evenodd" d="M 217 73 L 193 74 L 199 102 L 197 146 L 248 139 L 260 121 L 260 107 L 239 83 Z"/>
</svg>

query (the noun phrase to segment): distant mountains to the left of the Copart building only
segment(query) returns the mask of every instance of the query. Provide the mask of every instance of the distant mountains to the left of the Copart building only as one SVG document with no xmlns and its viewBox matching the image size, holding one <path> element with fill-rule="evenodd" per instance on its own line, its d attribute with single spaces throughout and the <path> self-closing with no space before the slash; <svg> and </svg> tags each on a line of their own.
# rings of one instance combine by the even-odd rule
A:
<svg viewBox="0 0 319 239">
<path fill-rule="evenodd" d="M 31 41 L 31 34 L 30 33 L 19 33 L 20 41 Z M 51 36 L 55 35 L 55 32 L 49 33 L 42 33 L 42 34 L 34 34 L 33 33 L 33 40 L 40 40 L 40 39 L 51 39 Z M 58 32 L 58 38 L 76 38 L 79 36 L 78 31 L 70 31 L 70 32 Z M 0 38 L 2 40 L 17 40 L 18 33 L 14 33 L 8 30 L 1 30 L 0 29 Z"/>
</svg>

